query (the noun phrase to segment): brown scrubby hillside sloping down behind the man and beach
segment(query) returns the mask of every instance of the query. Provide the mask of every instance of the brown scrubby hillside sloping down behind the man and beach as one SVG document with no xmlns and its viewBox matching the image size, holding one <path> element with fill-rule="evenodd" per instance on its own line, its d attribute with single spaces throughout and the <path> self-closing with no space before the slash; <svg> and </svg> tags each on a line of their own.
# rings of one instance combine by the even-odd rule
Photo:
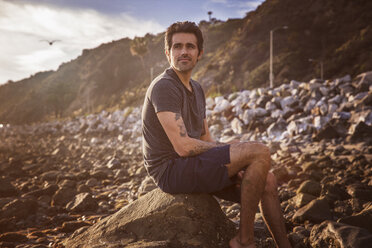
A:
<svg viewBox="0 0 372 248">
<path fill-rule="evenodd" d="M 372 70 L 372 2 L 267 0 L 243 19 L 199 23 L 205 54 L 193 77 L 207 95 L 268 86 L 269 33 L 275 85 Z M 164 33 L 83 50 L 57 71 L 0 86 L 0 123 L 30 123 L 141 104 L 151 75 L 168 62 Z M 133 49 L 137 46 L 137 50 Z M 142 46 L 142 47 L 141 47 Z M 132 49 L 131 49 L 132 47 Z M 318 62 L 309 62 L 309 59 Z"/>
</svg>

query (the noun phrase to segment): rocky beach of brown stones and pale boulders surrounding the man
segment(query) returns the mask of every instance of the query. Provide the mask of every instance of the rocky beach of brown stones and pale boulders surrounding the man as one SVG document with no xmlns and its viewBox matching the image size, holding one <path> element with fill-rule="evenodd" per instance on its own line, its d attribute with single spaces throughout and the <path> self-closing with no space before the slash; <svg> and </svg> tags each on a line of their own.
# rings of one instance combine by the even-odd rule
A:
<svg viewBox="0 0 372 248">
<path fill-rule="evenodd" d="M 292 81 L 208 98 L 207 108 L 216 139 L 258 140 L 272 149 L 294 247 L 365 247 L 372 242 L 371 72 L 354 80 Z M 155 187 L 143 167 L 140 113 L 137 107 L 35 125 L 0 125 L 0 247 L 63 247 L 72 237 L 100 230 L 108 219 L 134 209 L 138 198 L 155 197 L 146 194 Z M 238 223 L 239 205 L 219 203 Z M 194 233 L 192 226 L 182 232 Z M 169 232 L 177 228 L 167 226 Z M 260 213 L 255 229 L 260 247 L 273 247 Z M 135 235 L 131 242 L 126 239 L 133 247 L 180 242 Z M 216 244 L 227 238 L 213 236 L 212 241 L 208 235 L 201 236 Z"/>
</svg>

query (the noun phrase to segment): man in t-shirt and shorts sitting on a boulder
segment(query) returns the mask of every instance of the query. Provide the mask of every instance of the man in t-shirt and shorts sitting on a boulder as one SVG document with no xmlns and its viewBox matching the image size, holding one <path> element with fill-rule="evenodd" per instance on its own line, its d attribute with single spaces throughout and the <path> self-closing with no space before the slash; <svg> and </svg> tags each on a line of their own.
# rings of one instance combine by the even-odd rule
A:
<svg viewBox="0 0 372 248">
<path fill-rule="evenodd" d="M 210 135 L 203 90 L 191 79 L 203 55 L 195 23 L 177 22 L 167 29 L 165 54 L 171 67 L 149 86 L 142 112 L 149 175 L 168 193 L 212 193 L 240 202 L 239 232 L 230 247 L 255 247 L 258 205 L 277 246 L 290 247 L 275 176 L 269 172 L 269 149 L 257 142 L 221 144 Z"/>
</svg>

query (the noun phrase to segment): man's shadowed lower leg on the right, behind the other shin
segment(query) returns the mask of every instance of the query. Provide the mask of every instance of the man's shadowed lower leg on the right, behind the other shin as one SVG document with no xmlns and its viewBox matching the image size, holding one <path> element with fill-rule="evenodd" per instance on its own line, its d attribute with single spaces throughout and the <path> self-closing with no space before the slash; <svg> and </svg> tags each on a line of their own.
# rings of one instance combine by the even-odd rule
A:
<svg viewBox="0 0 372 248">
<path fill-rule="evenodd" d="M 287 237 L 283 213 L 281 211 L 276 178 L 271 172 L 266 178 L 266 186 L 260 202 L 260 210 L 277 247 L 291 247 Z"/>
</svg>

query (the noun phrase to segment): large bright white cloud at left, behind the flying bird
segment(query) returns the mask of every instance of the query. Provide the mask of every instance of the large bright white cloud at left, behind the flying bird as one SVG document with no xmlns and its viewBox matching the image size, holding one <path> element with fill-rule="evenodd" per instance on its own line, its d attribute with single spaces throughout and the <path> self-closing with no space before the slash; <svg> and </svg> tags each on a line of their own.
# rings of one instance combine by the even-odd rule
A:
<svg viewBox="0 0 372 248">
<path fill-rule="evenodd" d="M 0 1 L 0 84 L 55 70 L 86 48 L 165 30 L 153 21 L 92 9 Z M 52 46 L 41 40 L 60 40 Z"/>
</svg>

